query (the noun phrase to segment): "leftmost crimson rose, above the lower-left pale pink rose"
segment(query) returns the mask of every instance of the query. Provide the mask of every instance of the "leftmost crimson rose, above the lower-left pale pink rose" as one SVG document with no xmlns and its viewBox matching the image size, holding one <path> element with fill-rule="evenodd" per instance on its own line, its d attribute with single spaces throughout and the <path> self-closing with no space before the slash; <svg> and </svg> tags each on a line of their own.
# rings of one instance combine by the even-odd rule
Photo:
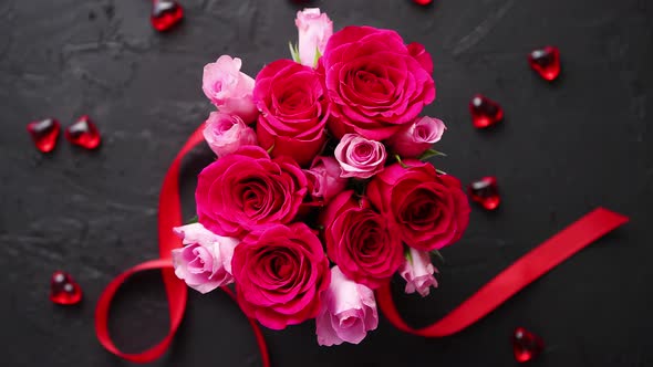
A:
<svg viewBox="0 0 653 367">
<path fill-rule="evenodd" d="M 305 175 L 290 158 L 270 159 L 260 147 L 241 147 L 199 174 L 198 221 L 216 234 L 235 238 L 270 223 L 289 223 L 307 185 Z"/>
</svg>

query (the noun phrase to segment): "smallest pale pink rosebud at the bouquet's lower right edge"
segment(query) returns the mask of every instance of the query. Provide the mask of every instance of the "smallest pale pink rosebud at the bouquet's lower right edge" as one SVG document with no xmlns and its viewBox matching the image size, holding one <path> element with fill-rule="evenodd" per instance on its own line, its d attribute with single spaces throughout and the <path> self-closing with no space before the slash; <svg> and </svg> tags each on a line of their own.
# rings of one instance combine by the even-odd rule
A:
<svg viewBox="0 0 653 367">
<path fill-rule="evenodd" d="M 419 251 L 411 248 L 410 256 L 406 259 L 400 274 L 406 280 L 406 293 L 419 293 L 423 297 L 431 292 L 431 286 L 437 287 L 437 280 L 433 273 L 437 269 L 431 263 L 431 256 L 426 251 Z"/>
</svg>

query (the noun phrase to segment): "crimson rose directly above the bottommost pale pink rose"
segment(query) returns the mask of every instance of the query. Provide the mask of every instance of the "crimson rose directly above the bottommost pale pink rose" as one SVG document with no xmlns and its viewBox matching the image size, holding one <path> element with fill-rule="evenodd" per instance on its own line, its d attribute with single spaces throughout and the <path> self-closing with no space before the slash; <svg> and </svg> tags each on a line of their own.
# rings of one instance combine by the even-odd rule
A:
<svg viewBox="0 0 653 367">
<path fill-rule="evenodd" d="M 322 217 L 329 259 L 352 281 L 379 287 L 403 263 L 404 250 L 396 231 L 366 199 L 353 190 L 336 196 Z"/>
</svg>

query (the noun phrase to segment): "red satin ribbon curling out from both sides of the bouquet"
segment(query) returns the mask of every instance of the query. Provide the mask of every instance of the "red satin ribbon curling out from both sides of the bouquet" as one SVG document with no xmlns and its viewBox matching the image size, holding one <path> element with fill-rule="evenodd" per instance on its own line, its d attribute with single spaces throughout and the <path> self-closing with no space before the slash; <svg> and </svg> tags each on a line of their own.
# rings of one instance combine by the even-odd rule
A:
<svg viewBox="0 0 653 367">
<path fill-rule="evenodd" d="M 159 259 L 141 263 L 116 276 L 106 286 L 97 302 L 95 308 L 95 334 L 97 339 L 106 350 L 123 359 L 148 363 L 160 357 L 167 350 L 184 318 L 187 287 L 183 281 L 175 276 L 170 254 L 173 249 L 182 247 L 182 240 L 173 233 L 172 229 L 183 224 L 178 184 L 182 159 L 201 141 L 201 128 L 198 128 L 179 150 L 164 178 L 158 201 Z M 517 260 L 440 321 L 424 328 L 415 329 L 404 322 L 392 298 L 390 283 L 376 290 L 376 302 L 387 319 L 401 331 L 425 337 L 452 335 L 483 318 L 521 289 L 628 221 L 628 217 L 608 209 L 598 208 L 593 210 Z M 162 342 L 144 352 L 124 353 L 116 347 L 108 334 L 107 324 L 111 302 L 117 290 L 129 276 L 142 271 L 156 269 L 162 271 L 168 300 L 170 316 L 168 334 Z M 236 300 L 231 290 L 228 287 L 221 290 Z M 265 367 L 270 367 L 270 357 L 261 329 L 253 318 L 248 319 L 255 333 L 262 364 Z"/>
</svg>

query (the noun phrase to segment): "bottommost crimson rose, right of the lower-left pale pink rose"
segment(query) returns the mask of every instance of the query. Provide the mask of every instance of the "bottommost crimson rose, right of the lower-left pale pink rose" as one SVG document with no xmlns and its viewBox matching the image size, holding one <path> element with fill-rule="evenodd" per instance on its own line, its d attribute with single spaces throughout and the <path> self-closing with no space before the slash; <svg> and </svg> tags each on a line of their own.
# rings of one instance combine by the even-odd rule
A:
<svg viewBox="0 0 653 367">
<path fill-rule="evenodd" d="M 251 232 L 234 250 L 231 269 L 242 311 L 273 329 L 315 317 L 331 281 L 322 243 L 304 223 Z"/>
</svg>

